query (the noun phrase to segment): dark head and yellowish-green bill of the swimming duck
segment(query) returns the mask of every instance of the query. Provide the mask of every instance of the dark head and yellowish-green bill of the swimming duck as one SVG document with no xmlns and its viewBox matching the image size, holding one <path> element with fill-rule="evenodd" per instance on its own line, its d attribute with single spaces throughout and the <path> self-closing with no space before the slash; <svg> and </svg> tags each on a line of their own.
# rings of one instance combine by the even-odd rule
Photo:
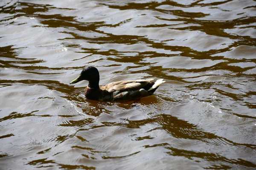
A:
<svg viewBox="0 0 256 170">
<path fill-rule="evenodd" d="M 74 79 L 73 81 L 70 82 L 70 84 L 74 84 L 74 83 L 77 83 L 77 82 L 80 82 L 82 80 L 87 80 L 89 82 L 98 82 L 99 83 L 99 71 L 97 68 L 95 67 L 87 67 L 87 68 L 84 68 L 79 77 L 77 77 L 76 79 Z"/>
</svg>

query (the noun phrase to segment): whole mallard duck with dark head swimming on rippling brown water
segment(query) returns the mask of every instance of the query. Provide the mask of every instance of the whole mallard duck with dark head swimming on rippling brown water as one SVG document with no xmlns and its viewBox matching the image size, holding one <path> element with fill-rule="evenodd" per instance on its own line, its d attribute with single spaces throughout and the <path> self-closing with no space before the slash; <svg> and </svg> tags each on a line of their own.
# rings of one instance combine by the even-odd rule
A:
<svg viewBox="0 0 256 170">
<path fill-rule="evenodd" d="M 131 100 L 140 97 L 152 95 L 157 90 L 163 79 L 151 82 L 154 79 L 140 79 L 111 82 L 105 86 L 99 86 L 99 71 L 95 67 L 87 67 L 81 71 L 79 77 L 74 79 L 70 84 L 89 81 L 85 89 L 85 97 L 91 100 Z"/>
</svg>

